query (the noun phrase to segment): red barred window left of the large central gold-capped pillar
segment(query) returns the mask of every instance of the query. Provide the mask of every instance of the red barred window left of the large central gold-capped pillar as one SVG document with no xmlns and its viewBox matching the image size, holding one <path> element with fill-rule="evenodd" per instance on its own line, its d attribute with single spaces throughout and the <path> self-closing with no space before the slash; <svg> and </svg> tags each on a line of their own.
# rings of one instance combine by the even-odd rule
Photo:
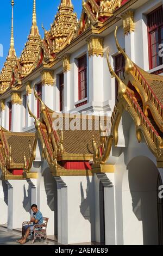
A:
<svg viewBox="0 0 163 256">
<path fill-rule="evenodd" d="M 79 100 L 87 97 L 87 60 L 86 55 L 78 59 Z"/>
</svg>

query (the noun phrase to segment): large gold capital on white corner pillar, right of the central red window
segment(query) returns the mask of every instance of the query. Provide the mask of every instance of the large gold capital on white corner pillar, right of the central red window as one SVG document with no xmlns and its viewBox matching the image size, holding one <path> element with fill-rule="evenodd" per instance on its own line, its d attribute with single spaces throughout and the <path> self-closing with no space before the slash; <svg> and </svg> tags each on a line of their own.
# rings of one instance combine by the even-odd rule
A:
<svg viewBox="0 0 163 256">
<path fill-rule="evenodd" d="M 103 38 L 99 38 L 97 36 L 91 36 L 87 40 L 87 50 L 89 53 L 89 57 L 96 55 L 103 57 Z"/>
</svg>

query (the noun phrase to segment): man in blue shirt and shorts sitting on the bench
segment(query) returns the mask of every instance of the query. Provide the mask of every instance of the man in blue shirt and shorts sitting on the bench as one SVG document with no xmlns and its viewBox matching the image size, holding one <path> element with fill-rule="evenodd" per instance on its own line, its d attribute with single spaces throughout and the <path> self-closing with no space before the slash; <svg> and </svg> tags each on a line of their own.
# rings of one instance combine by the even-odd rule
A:
<svg viewBox="0 0 163 256">
<path fill-rule="evenodd" d="M 39 211 L 39 209 L 37 209 L 37 205 L 33 204 L 31 206 L 31 209 L 33 211 L 33 216 L 30 218 L 30 222 L 33 222 L 33 224 L 23 226 L 22 238 L 21 238 L 21 240 L 17 241 L 17 242 L 21 243 L 21 245 L 24 245 L 24 243 L 26 243 L 29 233 L 33 232 L 34 225 L 43 223 L 43 216 L 42 216 L 41 212 Z"/>
</svg>

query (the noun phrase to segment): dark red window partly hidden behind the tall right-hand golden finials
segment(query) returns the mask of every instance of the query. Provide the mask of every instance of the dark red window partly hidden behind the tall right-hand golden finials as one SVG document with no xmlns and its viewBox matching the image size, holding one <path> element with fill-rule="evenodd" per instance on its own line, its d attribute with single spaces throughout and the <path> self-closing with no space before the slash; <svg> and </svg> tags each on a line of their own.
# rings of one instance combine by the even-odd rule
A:
<svg viewBox="0 0 163 256">
<path fill-rule="evenodd" d="M 122 54 L 118 54 L 115 57 L 115 72 L 116 72 L 117 76 L 121 78 L 121 80 L 124 79 L 124 66 L 125 66 L 124 56 Z M 117 98 L 117 96 L 118 96 L 118 83 L 117 83 L 117 81 L 116 81 L 115 85 L 116 85 L 115 96 Z"/>
</svg>

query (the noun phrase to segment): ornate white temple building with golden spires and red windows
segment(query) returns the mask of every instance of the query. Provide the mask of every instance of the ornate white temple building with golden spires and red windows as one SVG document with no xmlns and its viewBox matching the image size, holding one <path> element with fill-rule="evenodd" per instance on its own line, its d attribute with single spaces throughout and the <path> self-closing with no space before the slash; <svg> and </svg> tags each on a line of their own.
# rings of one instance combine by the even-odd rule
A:
<svg viewBox="0 0 163 256">
<path fill-rule="evenodd" d="M 20 229 L 36 203 L 62 245 L 163 245 L 162 1 L 83 0 L 79 20 L 73 1 L 41 38 L 33 0 L 20 57 L 11 1 L 0 225 Z"/>
</svg>

